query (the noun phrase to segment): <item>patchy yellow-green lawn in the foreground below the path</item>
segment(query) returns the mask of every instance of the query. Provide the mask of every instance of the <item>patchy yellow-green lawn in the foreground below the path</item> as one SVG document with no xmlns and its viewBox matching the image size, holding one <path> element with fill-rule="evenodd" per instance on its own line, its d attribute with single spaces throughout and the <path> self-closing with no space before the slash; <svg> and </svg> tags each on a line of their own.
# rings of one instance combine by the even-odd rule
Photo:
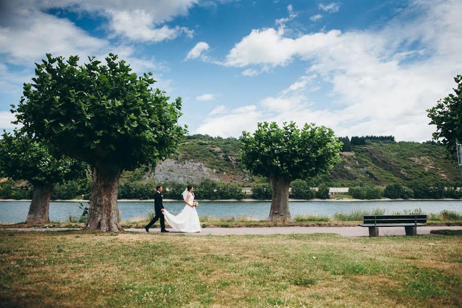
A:
<svg viewBox="0 0 462 308">
<path fill-rule="evenodd" d="M 2 306 L 462 305 L 460 235 L 0 230 L 0 259 Z"/>
</svg>

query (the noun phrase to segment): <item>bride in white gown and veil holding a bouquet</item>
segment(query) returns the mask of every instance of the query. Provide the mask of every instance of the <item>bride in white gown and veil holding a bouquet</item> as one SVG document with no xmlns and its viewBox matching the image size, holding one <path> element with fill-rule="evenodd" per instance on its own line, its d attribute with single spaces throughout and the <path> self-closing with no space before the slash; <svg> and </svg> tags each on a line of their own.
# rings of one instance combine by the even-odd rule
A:
<svg viewBox="0 0 462 308">
<path fill-rule="evenodd" d="M 188 185 L 183 191 L 183 200 L 186 205 L 177 216 L 168 213 L 165 209 L 163 211 L 165 220 L 176 231 L 185 233 L 201 232 L 201 224 L 199 216 L 197 215 L 196 206 L 194 206 L 194 187 Z"/>
</svg>

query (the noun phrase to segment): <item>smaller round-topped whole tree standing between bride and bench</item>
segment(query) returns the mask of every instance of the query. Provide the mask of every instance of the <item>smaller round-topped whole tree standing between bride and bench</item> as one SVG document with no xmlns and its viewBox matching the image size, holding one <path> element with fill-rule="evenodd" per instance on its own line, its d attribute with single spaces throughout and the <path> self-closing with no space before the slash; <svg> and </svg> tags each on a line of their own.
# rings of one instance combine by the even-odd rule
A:
<svg viewBox="0 0 462 308">
<path fill-rule="evenodd" d="M 292 221 L 288 207 L 289 187 L 295 179 L 314 177 L 340 160 L 341 143 L 324 126 L 294 122 L 280 128 L 275 122 L 258 123 L 252 135 L 242 132 L 242 163 L 254 175 L 269 179 L 272 202 L 269 221 Z"/>
</svg>

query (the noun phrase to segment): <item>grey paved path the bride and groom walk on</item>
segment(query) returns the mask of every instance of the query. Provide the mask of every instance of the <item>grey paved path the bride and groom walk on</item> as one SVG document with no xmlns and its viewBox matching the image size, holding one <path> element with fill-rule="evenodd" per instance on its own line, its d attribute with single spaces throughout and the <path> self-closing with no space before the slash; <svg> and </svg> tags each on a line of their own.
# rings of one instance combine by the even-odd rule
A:
<svg viewBox="0 0 462 308">
<path fill-rule="evenodd" d="M 79 230 L 72 228 L 8 228 L 22 231 L 63 231 Z M 417 227 L 417 235 L 430 235 L 430 230 L 462 230 L 462 226 L 425 226 Z M 144 232 L 145 229 L 127 228 L 128 232 Z M 368 228 L 364 227 L 253 227 L 253 228 L 202 228 L 200 233 L 180 233 L 167 228 L 166 235 L 268 235 L 268 234 L 313 234 L 334 233 L 342 236 L 360 237 L 369 236 Z M 150 234 L 160 233 L 159 228 L 149 229 Z M 380 227 L 379 235 L 406 235 L 404 227 Z"/>
</svg>

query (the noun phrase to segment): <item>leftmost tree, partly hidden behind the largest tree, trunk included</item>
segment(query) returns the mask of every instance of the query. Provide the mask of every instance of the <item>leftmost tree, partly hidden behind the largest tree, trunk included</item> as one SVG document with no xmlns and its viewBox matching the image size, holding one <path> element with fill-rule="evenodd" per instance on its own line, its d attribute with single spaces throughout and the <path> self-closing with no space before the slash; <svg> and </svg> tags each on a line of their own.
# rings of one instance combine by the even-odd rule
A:
<svg viewBox="0 0 462 308">
<path fill-rule="evenodd" d="M 65 156 L 54 157 L 46 145 L 18 131 L 4 131 L 0 140 L 0 170 L 14 180 L 27 180 L 34 187 L 27 224 L 48 223 L 51 191 L 56 183 L 78 179 L 88 166 Z"/>
</svg>

